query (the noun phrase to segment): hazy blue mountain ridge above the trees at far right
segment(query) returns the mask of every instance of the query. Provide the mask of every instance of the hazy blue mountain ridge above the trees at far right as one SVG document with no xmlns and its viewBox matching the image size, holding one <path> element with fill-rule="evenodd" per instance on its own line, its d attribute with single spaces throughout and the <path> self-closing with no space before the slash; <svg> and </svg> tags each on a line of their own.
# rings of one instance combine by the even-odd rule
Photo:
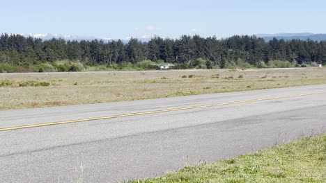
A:
<svg viewBox="0 0 326 183">
<path fill-rule="evenodd" d="M 313 40 L 313 41 L 326 41 L 326 34 L 313 34 L 313 33 L 277 33 L 277 34 L 256 34 L 257 37 L 262 37 L 266 42 L 269 42 L 274 37 L 277 40 Z"/>
</svg>

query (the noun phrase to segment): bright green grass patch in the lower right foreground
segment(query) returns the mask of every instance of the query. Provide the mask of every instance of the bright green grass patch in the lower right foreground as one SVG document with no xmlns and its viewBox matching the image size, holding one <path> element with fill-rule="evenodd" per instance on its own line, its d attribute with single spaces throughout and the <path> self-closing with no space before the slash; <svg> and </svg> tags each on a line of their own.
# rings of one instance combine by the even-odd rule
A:
<svg viewBox="0 0 326 183">
<path fill-rule="evenodd" d="M 326 182 L 326 135 L 132 182 Z"/>
</svg>

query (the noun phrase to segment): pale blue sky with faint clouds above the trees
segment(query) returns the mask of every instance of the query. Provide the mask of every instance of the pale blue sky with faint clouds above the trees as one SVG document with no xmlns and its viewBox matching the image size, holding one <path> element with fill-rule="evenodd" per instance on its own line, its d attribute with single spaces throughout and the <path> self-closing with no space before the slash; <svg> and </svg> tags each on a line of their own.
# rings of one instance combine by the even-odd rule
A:
<svg viewBox="0 0 326 183">
<path fill-rule="evenodd" d="M 323 0 L 0 0 L 0 33 L 123 39 L 326 33 Z"/>
</svg>

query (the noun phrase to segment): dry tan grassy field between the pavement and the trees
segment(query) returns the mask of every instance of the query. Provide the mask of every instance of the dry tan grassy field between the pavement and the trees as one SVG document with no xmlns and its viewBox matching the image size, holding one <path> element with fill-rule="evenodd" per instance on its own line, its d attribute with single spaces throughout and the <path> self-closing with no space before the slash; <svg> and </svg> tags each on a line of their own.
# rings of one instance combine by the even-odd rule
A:
<svg viewBox="0 0 326 183">
<path fill-rule="evenodd" d="M 325 69 L 1 73 L 0 110 L 326 83 Z"/>
</svg>

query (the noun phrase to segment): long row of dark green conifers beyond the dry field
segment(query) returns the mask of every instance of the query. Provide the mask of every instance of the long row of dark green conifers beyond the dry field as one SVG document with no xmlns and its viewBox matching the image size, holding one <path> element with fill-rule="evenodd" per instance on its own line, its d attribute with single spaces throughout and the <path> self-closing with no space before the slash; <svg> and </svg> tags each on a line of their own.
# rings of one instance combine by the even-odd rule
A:
<svg viewBox="0 0 326 183">
<path fill-rule="evenodd" d="M 58 60 L 79 60 L 86 65 L 137 64 L 143 60 L 169 62 L 180 69 L 192 67 L 226 68 L 265 67 L 272 60 L 304 66 L 316 62 L 326 64 L 326 42 L 312 40 L 277 40 L 235 35 L 222 40 L 217 37 L 182 35 L 178 39 L 155 36 L 148 42 L 132 38 L 104 42 L 102 40 L 41 40 L 22 35 L 0 36 L 0 64 L 29 66 Z"/>
</svg>

